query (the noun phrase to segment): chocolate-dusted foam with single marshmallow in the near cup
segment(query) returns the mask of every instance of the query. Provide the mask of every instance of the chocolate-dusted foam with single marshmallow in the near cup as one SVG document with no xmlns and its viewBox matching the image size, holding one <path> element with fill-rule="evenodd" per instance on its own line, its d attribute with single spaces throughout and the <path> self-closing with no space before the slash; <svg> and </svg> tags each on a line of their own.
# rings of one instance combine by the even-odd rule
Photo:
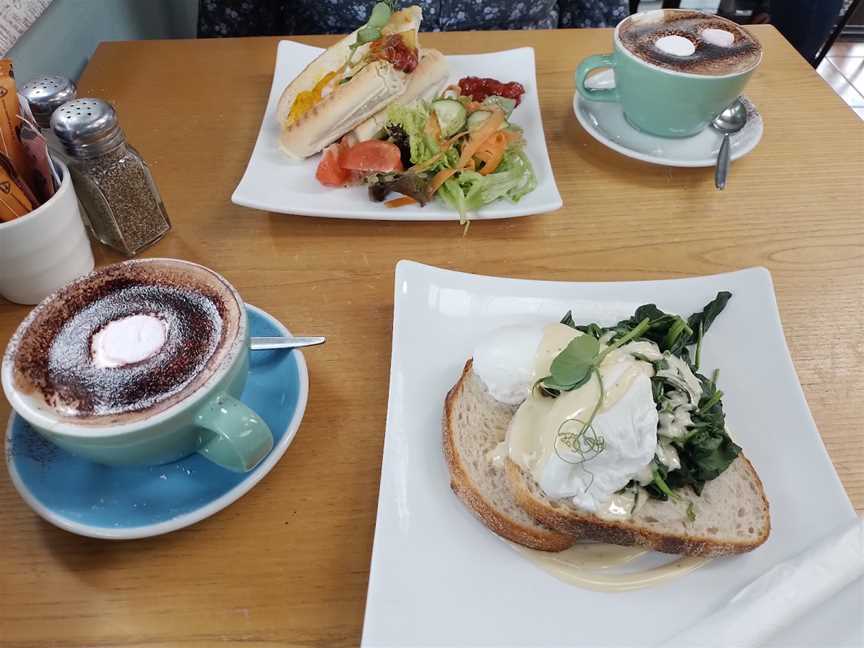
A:
<svg viewBox="0 0 864 648">
<path fill-rule="evenodd" d="M 233 291 L 200 266 L 120 263 L 38 306 L 7 360 L 16 389 L 55 415 L 131 422 L 180 402 L 213 375 L 237 339 L 239 308 Z M 155 338 L 153 322 L 161 326 Z"/>
</svg>

